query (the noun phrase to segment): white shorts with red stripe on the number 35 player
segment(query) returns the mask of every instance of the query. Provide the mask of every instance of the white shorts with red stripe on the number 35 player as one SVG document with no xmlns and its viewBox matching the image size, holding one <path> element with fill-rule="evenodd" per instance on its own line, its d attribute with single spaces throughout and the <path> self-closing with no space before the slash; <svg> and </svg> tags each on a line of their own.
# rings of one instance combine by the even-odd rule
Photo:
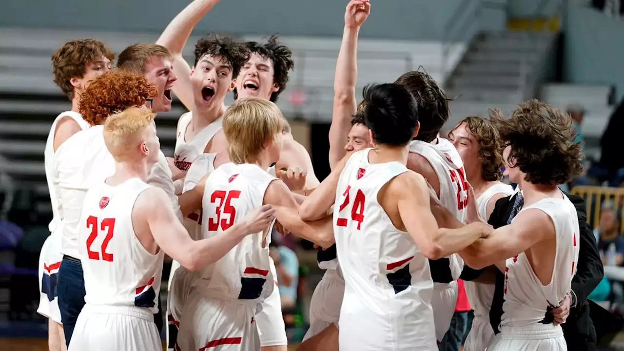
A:
<svg viewBox="0 0 624 351">
<path fill-rule="evenodd" d="M 255 309 L 239 302 L 207 298 L 192 292 L 178 331 L 179 350 L 258 351 Z"/>
</svg>

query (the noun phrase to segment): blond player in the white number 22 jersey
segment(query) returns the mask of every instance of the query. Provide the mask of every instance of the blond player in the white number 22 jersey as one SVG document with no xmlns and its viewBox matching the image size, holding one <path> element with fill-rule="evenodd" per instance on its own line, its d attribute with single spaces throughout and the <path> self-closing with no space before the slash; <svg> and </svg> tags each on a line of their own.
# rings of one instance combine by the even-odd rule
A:
<svg viewBox="0 0 624 351">
<path fill-rule="evenodd" d="M 267 205 L 248 210 L 221 235 L 190 239 L 167 194 L 146 183 L 160 151 L 154 117 L 149 109 L 132 107 L 105 122 L 115 172 L 84 198 L 79 251 L 86 304 L 70 350 L 160 350 L 152 314 L 158 312 L 164 253 L 187 269 L 200 269 L 273 220 Z"/>
</svg>

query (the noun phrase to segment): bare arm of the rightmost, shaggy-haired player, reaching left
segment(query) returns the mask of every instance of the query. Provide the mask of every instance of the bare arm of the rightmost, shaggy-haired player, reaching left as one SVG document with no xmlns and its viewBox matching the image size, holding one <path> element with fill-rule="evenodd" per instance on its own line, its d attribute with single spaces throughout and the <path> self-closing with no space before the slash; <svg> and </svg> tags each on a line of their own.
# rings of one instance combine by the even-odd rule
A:
<svg viewBox="0 0 624 351">
<path fill-rule="evenodd" d="M 480 269 L 524 252 L 544 239 L 548 232 L 554 233 L 555 225 L 547 214 L 539 209 L 523 210 L 512 224 L 494 230 L 459 255 L 467 265 Z"/>
</svg>

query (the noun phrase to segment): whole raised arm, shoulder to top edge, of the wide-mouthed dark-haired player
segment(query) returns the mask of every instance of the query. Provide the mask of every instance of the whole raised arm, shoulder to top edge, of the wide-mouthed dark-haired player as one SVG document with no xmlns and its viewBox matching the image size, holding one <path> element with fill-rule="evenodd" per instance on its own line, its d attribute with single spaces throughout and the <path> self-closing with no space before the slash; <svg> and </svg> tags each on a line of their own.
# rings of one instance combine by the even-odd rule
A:
<svg viewBox="0 0 624 351">
<path fill-rule="evenodd" d="M 173 54 L 173 73 L 178 80 L 173 84 L 173 92 L 187 109 L 195 109 L 193 84 L 190 79 L 191 67 L 182 57 L 182 50 L 187 44 L 193 28 L 212 9 L 219 0 L 195 0 L 175 16 L 165 31 L 160 34 L 156 44 L 167 47 Z"/>
</svg>

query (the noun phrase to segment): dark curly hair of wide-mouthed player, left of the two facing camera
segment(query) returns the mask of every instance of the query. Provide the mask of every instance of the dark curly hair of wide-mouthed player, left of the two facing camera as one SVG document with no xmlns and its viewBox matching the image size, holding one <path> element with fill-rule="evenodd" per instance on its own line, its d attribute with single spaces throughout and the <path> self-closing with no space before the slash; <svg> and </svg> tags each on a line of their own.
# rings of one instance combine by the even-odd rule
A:
<svg viewBox="0 0 624 351">
<path fill-rule="evenodd" d="M 232 68 L 232 79 L 236 79 L 241 67 L 249 61 L 251 52 L 245 44 L 234 41 L 231 37 L 208 33 L 195 44 L 195 66 L 206 55 L 220 56 L 222 63 Z"/>
</svg>

